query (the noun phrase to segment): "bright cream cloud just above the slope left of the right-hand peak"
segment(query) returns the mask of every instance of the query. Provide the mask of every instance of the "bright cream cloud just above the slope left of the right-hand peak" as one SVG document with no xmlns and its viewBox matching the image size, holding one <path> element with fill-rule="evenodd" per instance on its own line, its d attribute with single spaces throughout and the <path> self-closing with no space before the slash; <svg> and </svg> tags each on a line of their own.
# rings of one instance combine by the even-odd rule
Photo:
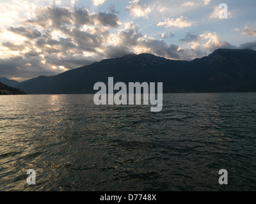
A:
<svg viewBox="0 0 256 204">
<path fill-rule="evenodd" d="M 230 45 L 230 43 L 221 41 L 215 32 L 210 33 L 209 31 L 205 31 L 203 34 L 200 34 L 200 38 L 202 40 L 208 40 L 203 46 L 210 52 L 213 52 L 217 48 L 235 48 L 234 46 Z"/>
</svg>

